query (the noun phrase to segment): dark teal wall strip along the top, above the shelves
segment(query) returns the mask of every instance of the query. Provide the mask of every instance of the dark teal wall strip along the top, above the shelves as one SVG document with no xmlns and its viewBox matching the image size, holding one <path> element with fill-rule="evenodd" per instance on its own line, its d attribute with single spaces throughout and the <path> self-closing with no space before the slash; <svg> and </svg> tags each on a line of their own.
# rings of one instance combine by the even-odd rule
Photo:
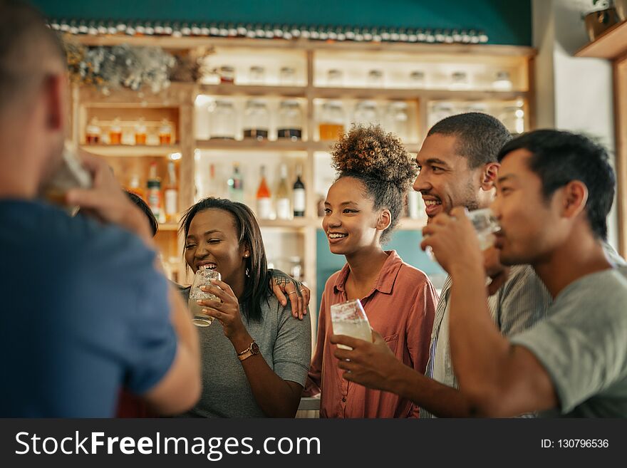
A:
<svg viewBox="0 0 627 468">
<path fill-rule="evenodd" d="M 477 28 L 489 43 L 530 46 L 531 0 L 32 0 L 57 19 L 133 19 Z"/>
</svg>

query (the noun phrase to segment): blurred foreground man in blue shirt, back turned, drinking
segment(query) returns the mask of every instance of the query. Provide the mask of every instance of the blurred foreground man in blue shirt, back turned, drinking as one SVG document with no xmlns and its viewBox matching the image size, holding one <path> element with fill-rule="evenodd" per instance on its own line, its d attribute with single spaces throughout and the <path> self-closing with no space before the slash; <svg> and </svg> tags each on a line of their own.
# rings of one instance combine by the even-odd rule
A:
<svg viewBox="0 0 627 468">
<path fill-rule="evenodd" d="M 0 415 L 110 417 L 122 385 L 182 412 L 199 396 L 197 333 L 155 268 L 144 215 L 90 155 L 93 187 L 66 202 L 98 219 L 38 199 L 63 164 L 67 112 L 56 36 L 0 0 Z"/>
</svg>

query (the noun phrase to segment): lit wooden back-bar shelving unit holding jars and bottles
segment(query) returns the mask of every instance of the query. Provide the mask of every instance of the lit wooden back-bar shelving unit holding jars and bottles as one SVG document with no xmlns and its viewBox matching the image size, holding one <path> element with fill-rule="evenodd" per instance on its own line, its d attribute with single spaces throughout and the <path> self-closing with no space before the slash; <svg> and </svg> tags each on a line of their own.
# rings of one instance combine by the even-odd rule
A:
<svg viewBox="0 0 627 468">
<path fill-rule="evenodd" d="M 458 44 L 393 44 L 393 43 L 328 43 L 315 41 L 284 41 L 263 39 L 232 39 L 232 38 L 155 38 L 155 37 L 125 37 L 125 36 L 78 36 L 78 41 L 91 46 L 113 46 L 120 43 L 132 43 L 138 46 L 161 46 L 167 50 L 185 50 L 189 53 L 201 54 L 213 51 L 207 60 L 219 64 L 224 59 L 238 60 L 239 66 L 257 64 L 264 60 L 271 61 L 272 66 L 281 61 L 281 54 L 296 61 L 303 85 L 280 86 L 270 82 L 269 85 L 237 84 L 196 84 L 172 83 L 167 90 L 157 95 L 150 92 L 133 93 L 130 91 L 115 92 L 103 95 L 98 90 L 76 88 L 73 93 L 73 140 L 77 144 L 84 142 L 86 115 L 98 113 L 102 110 L 109 118 L 116 112 L 124 113 L 125 109 L 135 108 L 151 113 L 155 120 L 160 113 L 176 115 L 177 139 L 175 145 L 168 146 L 133 146 L 133 145 L 83 145 L 84 149 L 107 157 L 112 165 L 118 167 L 123 182 L 135 167 L 145 167 L 147 161 L 160 157 L 160 175 L 165 177 L 165 162 L 172 153 L 180 153 L 177 160 L 177 174 L 180 187 L 179 208 L 182 212 L 195 200 L 195 186 L 198 177 L 206 177 L 207 162 L 212 164 L 232 164 L 234 158 L 240 158 L 242 165 L 252 171 L 255 165 L 269 164 L 270 172 L 278 167 L 279 162 L 290 165 L 290 184 L 293 182 L 294 166 L 303 165 L 304 184 L 307 189 L 306 217 L 290 220 L 261 220 L 260 225 L 269 235 L 295 236 L 294 245 L 301 249 L 296 253 L 302 259 L 304 279 L 311 288 L 312 301 L 310 308 L 317 310 L 316 304 L 316 230 L 321 228 L 321 219 L 318 218 L 318 195 L 314 191 L 321 184 L 321 175 L 316 172 L 316 158 L 328 153 L 332 141 L 318 141 L 317 112 L 323 100 L 342 100 L 346 103 L 347 111 L 351 110 L 356 100 L 377 100 L 385 104 L 391 100 L 400 100 L 408 103 L 408 123 L 410 132 L 405 140 L 409 152 L 418 152 L 420 143 L 427 131 L 427 112 L 433 101 L 462 101 L 467 103 L 504 103 L 524 102 L 525 128 L 529 129 L 534 110 L 531 107 L 530 93 L 532 76 L 529 68 L 534 51 L 527 47 L 514 46 L 478 46 Z M 274 57 L 274 58 L 273 58 Z M 348 61 L 346 61 L 348 59 Z M 492 70 L 498 67 L 507 68 L 514 75 L 513 90 L 490 90 L 475 88 L 472 90 L 442 89 L 442 83 L 435 80 L 425 88 L 408 88 L 402 83 L 392 83 L 390 87 L 368 88 L 359 83 L 345 83 L 346 87 L 327 87 L 321 85 L 321 73 L 329 63 L 336 61 L 346 67 L 369 67 L 377 65 L 379 68 L 394 67 L 403 70 L 398 62 L 420 63 L 425 71 L 430 69 L 444 70 L 450 73 L 451 66 L 470 67 L 473 70 Z M 355 61 L 353 63 L 353 61 Z M 243 64 L 243 65 L 242 65 Z M 448 68 L 447 68 L 448 67 Z M 474 67 L 474 68 L 473 68 Z M 390 72 L 391 73 L 391 72 Z M 408 73 L 405 70 L 404 73 Z M 444 73 L 444 72 L 442 72 Z M 486 72 L 487 73 L 487 72 Z M 515 79 L 514 79 L 515 78 Z M 392 86 L 396 86 L 395 88 Z M 438 89 L 440 88 L 440 89 Z M 199 136 L 199 118 L 197 98 L 224 96 L 232 100 L 247 98 L 266 98 L 279 100 L 281 98 L 297 99 L 301 103 L 304 115 L 304 140 L 212 140 Z M 88 112 L 89 111 L 89 112 Z M 135 112 L 136 113 L 136 112 Z M 90 114 L 91 115 L 91 114 Z M 348 123 L 348 118 L 347 118 Z M 274 138 L 275 135 L 271 135 Z M 152 159 L 150 159 L 152 157 Z M 116 162 L 117 161 L 117 162 Z M 123 165 L 125 162 L 126 165 Z M 276 175 L 276 171 L 274 171 Z M 224 176 L 224 175 L 222 175 Z M 247 175 L 248 177 L 248 175 Z M 223 182 L 223 181 L 221 181 Z M 246 180 L 245 184 L 257 186 L 257 180 Z M 250 190 L 250 188 L 248 189 Z M 320 190 L 318 188 L 318 190 Z M 250 192 L 247 192 L 250 194 Z M 222 192 L 224 194 L 224 192 Z M 247 199 L 252 203 L 254 199 Z M 254 204 L 254 203 L 253 203 Z M 402 219 L 399 229 L 420 231 L 424 222 L 420 219 Z M 170 265 L 172 271 L 178 271 L 177 279 L 185 281 L 185 265 L 182 262 L 182 239 L 177 234 L 177 224 L 162 224 L 160 226 L 159 245 L 167 251 L 162 252 L 164 259 L 178 262 Z M 281 237 L 280 239 L 286 239 Z M 277 243 L 278 242 L 278 243 Z M 266 244 L 268 242 L 266 241 Z M 272 244 L 272 243 L 271 243 Z M 279 250 L 287 249 L 283 240 L 274 242 Z M 286 247 L 284 247 L 286 246 Z M 276 252 L 271 252 L 276 254 Z M 291 254 L 284 253 L 286 256 Z M 289 272 L 289 271 L 288 271 Z M 315 317 L 313 314 L 312 317 Z M 314 331 L 316 323 L 312 323 Z"/>
</svg>

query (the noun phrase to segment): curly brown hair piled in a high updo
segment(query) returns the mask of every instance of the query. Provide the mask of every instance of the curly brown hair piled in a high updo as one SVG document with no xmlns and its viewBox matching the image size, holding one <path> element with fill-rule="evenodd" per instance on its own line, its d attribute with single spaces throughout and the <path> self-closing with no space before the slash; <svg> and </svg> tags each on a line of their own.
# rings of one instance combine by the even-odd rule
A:
<svg viewBox="0 0 627 468">
<path fill-rule="evenodd" d="M 379 125 L 353 125 L 331 151 L 338 178 L 359 180 L 374 209 L 389 209 L 390 227 L 381 234 L 381 244 L 390 240 L 405 207 L 405 193 L 418 174 L 415 164 L 396 135 Z"/>
</svg>

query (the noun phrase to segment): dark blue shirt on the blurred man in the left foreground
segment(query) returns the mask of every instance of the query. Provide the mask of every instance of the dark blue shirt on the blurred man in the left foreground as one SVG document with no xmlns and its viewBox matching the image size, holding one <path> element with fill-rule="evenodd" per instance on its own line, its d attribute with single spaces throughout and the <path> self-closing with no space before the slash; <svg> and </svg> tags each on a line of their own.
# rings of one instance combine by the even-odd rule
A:
<svg viewBox="0 0 627 468">
<path fill-rule="evenodd" d="M 0 417 L 111 417 L 177 340 L 155 253 L 123 229 L 0 200 Z"/>
</svg>

